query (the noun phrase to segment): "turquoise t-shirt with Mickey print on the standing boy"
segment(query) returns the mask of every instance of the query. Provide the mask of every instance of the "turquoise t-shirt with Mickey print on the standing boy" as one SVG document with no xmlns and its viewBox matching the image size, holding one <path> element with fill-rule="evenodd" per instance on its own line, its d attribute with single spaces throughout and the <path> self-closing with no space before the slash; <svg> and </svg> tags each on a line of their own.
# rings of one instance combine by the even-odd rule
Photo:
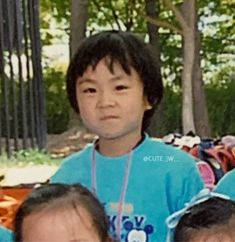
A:
<svg viewBox="0 0 235 242">
<path fill-rule="evenodd" d="M 93 145 L 71 155 L 52 183 L 81 183 L 91 189 Z M 104 204 L 110 233 L 116 234 L 117 213 L 128 154 L 107 157 L 95 151 L 97 195 Z M 122 212 L 121 241 L 166 240 L 165 219 L 203 188 L 195 161 L 186 152 L 147 135 L 132 155 Z"/>
</svg>

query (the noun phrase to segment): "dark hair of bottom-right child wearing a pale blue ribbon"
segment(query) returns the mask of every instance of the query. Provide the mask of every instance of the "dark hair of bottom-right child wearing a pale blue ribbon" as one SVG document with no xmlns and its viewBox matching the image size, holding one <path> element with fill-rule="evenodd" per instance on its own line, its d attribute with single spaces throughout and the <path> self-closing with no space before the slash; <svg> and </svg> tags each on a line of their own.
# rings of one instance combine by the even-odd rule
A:
<svg viewBox="0 0 235 242">
<path fill-rule="evenodd" d="M 202 230 L 230 228 L 231 223 L 235 224 L 235 202 L 212 197 L 191 207 L 182 216 L 175 228 L 174 241 L 189 242 L 196 233 L 200 234 Z"/>
</svg>

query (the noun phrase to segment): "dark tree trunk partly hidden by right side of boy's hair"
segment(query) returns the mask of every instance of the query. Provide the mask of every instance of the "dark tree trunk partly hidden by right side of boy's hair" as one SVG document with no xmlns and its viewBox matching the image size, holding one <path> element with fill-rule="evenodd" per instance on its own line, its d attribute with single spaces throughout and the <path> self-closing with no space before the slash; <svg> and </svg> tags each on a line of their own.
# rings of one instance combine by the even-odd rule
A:
<svg viewBox="0 0 235 242">
<path fill-rule="evenodd" d="M 145 11 L 147 16 L 151 17 L 152 19 L 156 19 L 159 13 L 159 6 L 156 6 L 155 0 L 145 0 Z M 150 22 L 147 22 L 147 29 L 148 29 L 148 35 L 149 35 L 149 43 L 151 45 L 153 53 L 157 58 L 159 73 L 161 73 L 158 26 Z M 148 128 L 148 133 L 151 136 L 161 135 L 161 133 L 159 132 L 159 129 L 161 129 L 162 115 L 163 115 L 163 108 L 162 108 L 162 104 L 160 104 Z"/>
</svg>

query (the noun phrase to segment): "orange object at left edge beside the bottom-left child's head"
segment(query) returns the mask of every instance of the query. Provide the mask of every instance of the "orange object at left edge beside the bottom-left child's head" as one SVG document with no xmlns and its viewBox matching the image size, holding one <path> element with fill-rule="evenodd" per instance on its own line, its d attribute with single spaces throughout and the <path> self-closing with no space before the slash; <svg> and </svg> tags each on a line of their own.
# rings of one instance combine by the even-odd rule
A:
<svg viewBox="0 0 235 242">
<path fill-rule="evenodd" d="M 34 185 L 0 187 L 0 225 L 13 230 L 15 213 Z"/>
</svg>

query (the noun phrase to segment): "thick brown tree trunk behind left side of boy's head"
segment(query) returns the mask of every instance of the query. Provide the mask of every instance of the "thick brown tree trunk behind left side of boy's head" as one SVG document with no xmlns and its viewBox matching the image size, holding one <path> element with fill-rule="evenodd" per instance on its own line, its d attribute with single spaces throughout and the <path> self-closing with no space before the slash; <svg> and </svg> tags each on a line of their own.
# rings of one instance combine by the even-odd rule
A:
<svg viewBox="0 0 235 242">
<path fill-rule="evenodd" d="M 80 42 L 85 38 L 88 20 L 88 0 L 71 0 L 70 4 L 70 57 L 72 57 Z M 73 110 L 70 113 L 69 128 L 84 129 L 79 115 Z"/>
</svg>

